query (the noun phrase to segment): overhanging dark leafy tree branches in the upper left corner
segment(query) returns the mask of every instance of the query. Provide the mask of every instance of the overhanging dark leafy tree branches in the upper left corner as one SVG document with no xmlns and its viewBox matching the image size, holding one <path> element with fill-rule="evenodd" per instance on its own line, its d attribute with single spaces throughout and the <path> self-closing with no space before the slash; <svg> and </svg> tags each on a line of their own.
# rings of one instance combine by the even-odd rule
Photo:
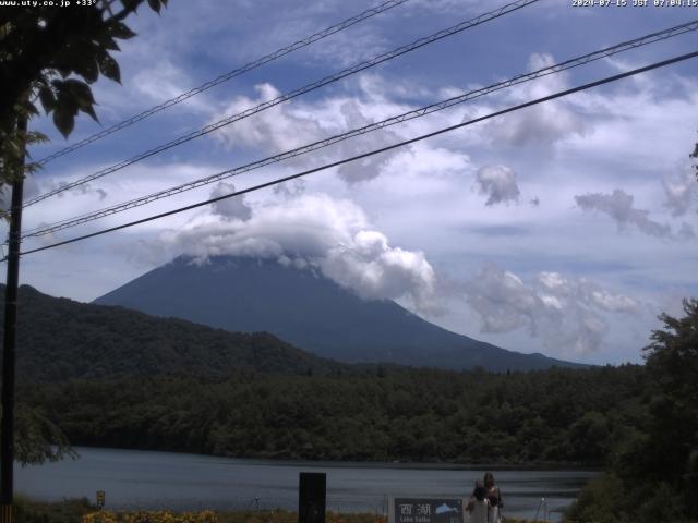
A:
<svg viewBox="0 0 698 523">
<path fill-rule="evenodd" d="M 17 131 L 20 118 L 39 113 L 37 101 L 65 137 L 80 112 L 97 120 L 89 85 L 100 74 L 120 82 L 111 52 L 119 50 L 117 40 L 135 36 L 123 21 L 143 1 L 95 0 L 69 8 L 39 2 L 0 10 L 0 188 L 37 167 L 21 167 L 25 144 L 45 137 Z M 159 13 L 167 0 L 147 3 Z"/>
</svg>

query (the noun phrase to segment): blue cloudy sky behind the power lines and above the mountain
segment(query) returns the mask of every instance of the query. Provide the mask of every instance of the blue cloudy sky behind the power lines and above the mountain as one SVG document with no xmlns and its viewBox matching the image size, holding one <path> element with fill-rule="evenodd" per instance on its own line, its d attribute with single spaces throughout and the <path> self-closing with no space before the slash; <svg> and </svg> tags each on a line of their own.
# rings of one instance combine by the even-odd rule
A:
<svg viewBox="0 0 698 523">
<path fill-rule="evenodd" d="M 380 2 L 172 0 L 129 19 L 122 85 L 100 122 L 40 159 Z M 488 12 L 409 0 L 45 166 L 32 197 Z M 698 19 L 698 8 L 541 0 L 334 82 L 34 206 L 24 230 L 193 181 Z M 650 2 L 652 3 L 652 2 Z M 25 241 L 28 250 L 228 194 L 698 49 L 696 32 Z M 641 362 L 658 315 L 696 296 L 696 59 L 574 94 L 243 197 L 22 258 L 21 281 L 92 301 L 179 255 L 277 259 L 455 332 L 565 360 Z M 185 294 L 186 290 L 182 289 Z"/>
</svg>

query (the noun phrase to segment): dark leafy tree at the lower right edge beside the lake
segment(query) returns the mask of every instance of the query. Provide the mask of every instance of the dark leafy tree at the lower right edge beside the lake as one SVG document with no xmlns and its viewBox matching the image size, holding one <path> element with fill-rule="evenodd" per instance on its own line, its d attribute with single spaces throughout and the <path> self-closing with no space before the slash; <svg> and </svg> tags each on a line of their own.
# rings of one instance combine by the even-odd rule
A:
<svg viewBox="0 0 698 523">
<path fill-rule="evenodd" d="M 609 451 L 609 474 L 591 483 L 568 518 L 600 522 L 698 521 L 698 300 L 645 349 L 645 388 Z"/>
</svg>

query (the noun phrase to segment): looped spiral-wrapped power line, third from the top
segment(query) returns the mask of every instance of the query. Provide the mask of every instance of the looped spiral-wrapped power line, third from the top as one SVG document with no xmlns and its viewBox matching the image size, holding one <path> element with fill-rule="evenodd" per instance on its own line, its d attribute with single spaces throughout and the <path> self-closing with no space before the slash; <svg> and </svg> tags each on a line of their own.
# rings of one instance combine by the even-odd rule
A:
<svg viewBox="0 0 698 523">
<path fill-rule="evenodd" d="M 592 61 L 595 60 L 600 60 L 602 58 L 607 58 L 611 57 L 613 54 L 617 54 L 624 51 L 627 51 L 629 49 L 636 49 L 638 47 L 642 47 L 642 46 L 647 46 L 649 44 L 653 44 L 655 41 L 660 41 L 660 40 L 664 40 L 667 38 L 672 38 L 691 31 L 696 31 L 698 29 L 698 20 L 693 21 L 693 22 L 688 22 L 685 24 L 681 24 L 667 29 L 663 29 L 660 32 L 655 32 L 655 33 L 651 33 L 649 35 L 639 37 L 639 38 L 635 38 L 633 40 L 628 40 L 628 41 L 624 41 L 621 44 L 616 44 L 615 46 L 605 48 L 605 49 L 601 49 L 598 51 L 593 51 L 590 52 L 588 54 L 583 54 L 581 57 L 577 57 L 577 58 L 573 58 L 569 60 L 566 60 L 564 62 L 554 64 L 554 65 L 550 65 L 547 68 L 543 68 L 540 69 L 538 71 L 534 71 L 532 73 L 528 73 L 528 74 L 520 74 L 517 76 L 514 76 L 509 80 L 506 80 L 504 82 L 498 82 L 495 84 L 492 84 L 490 86 L 486 87 L 482 87 L 479 89 L 474 89 L 471 90 L 469 93 L 449 98 L 447 100 L 443 100 L 436 104 L 432 104 L 425 107 L 422 107 L 420 109 L 416 109 L 412 111 L 408 111 L 405 112 L 402 114 L 396 115 L 396 117 L 390 117 L 388 119 L 385 119 L 383 121 L 380 122 L 375 122 L 369 125 L 365 125 L 363 127 L 358 127 L 358 129 L 353 129 L 350 131 L 347 131 L 345 133 L 341 134 L 337 134 L 334 136 L 330 136 L 328 138 L 324 138 L 317 142 L 314 142 L 312 144 L 308 144 L 308 145 L 303 145 L 301 147 L 297 147 L 294 149 L 290 149 L 261 160 L 256 160 L 254 162 L 251 163 L 246 163 L 244 166 L 240 166 L 240 167 L 236 167 L 233 169 L 224 171 L 222 173 L 216 173 L 209 177 L 205 177 L 205 178 L 201 178 L 198 180 L 194 180 L 192 182 L 188 182 L 188 183 L 183 183 L 181 185 L 176 185 L 173 187 L 169 187 L 167 190 L 163 190 L 163 191 L 158 191 L 156 193 L 152 193 L 149 195 L 146 196 L 141 196 L 128 202 L 123 202 L 121 204 L 117 204 L 113 205 L 111 207 L 107 207 L 94 212 L 89 212 L 89 214 L 85 214 L 82 216 L 77 216 L 77 217 L 72 217 L 72 218 L 68 218 L 64 220 L 60 220 L 56 223 L 51 223 L 48 226 L 40 226 L 38 228 L 35 228 L 34 230 L 29 230 L 27 231 L 22 239 L 26 239 L 26 238 L 37 238 L 37 236 L 41 236 L 45 234 L 49 234 L 52 232 L 57 232 L 63 229 L 70 229 L 72 227 L 76 227 L 79 224 L 88 222 L 88 221 L 93 221 L 93 220 L 97 220 L 100 218 L 105 218 L 107 216 L 111 216 L 115 215 L 117 212 L 122 212 L 129 209 L 133 209 L 135 207 L 140 207 L 142 205 L 146 205 L 149 204 L 152 202 L 161 199 L 161 198 L 166 198 L 169 196 L 172 196 L 174 194 L 179 194 L 179 193 L 183 193 L 185 191 L 191 191 L 193 188 L 197 188 L 204 185 L 208 185 L 210 183 L 215 183 L 218 182 L 220 180 L 225 180 L 228 178 L 232 178 L 245 172 L 250 172 L 252 170 L 256 170 L 260 169 L 262 167 L 266 167 L 269 166 L 272 163 L 276 163 L 289 158 L 293 158 L 303 154 L 308 154 L 314 150 L 318 150 L 325 147 L 328 147 L 330 145 L 337 144 L 339 142 L 359 136 L 359 135 L 363 135 L 376 130 L 381 130 L 381 129 L 385 129 L 387 126 L 390 125 L 395 125 L 398 123 L 402 123 L 409 120 L 413 120 L 417 118 L 421 118 L 424 117 L 426 114 L 431 114 L 433 112 L 436 111 L 441 111 L 444 110 L 446 108 L 453 107 L 455 105 L 458 104 L 462 104 L 469 100 L 472 100 L 474 98 L 479 98 L 481 96 L 485 96 L 490 93 L 496 92 L 496 90 L 501 90 L 504 88 L 508 88 L 512 87 L 514 85 L 518 85 L 525 82 L 530 82 L 532 80 L 535 78 L 540 78 L 543 76 L 547 76 L 550 74 L 555 74 L 555 73 L 559 73 L 562 71 L 565 70 L 569 70 L 573 68 L 577 68 L 580 65 L 585 65 L 587 63 L 590 63 Z"/>
</svg>

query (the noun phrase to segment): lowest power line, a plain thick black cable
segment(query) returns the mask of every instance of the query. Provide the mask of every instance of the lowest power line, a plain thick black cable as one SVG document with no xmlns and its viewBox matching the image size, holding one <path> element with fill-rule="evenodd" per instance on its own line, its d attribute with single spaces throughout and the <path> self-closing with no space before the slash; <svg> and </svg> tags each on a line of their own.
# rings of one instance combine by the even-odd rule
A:
<svg viewBox="0 0 698 523">
<path fill-rule="evenodd" d="M 55 247 L 59 247 L 59 246 L 62 246 L 62 245 L 68 245 L 70 243 L 80 242 L 82 240 L 87 240 L 89 238 L 99 236 L 101 234 L 107 234 L 109 232 L 119 231 L 121 229 L 127 229 L 127 228 L 134 227 L 134 226 L 141 224 L 141 223 L 146 223 L 148 221 L 154 221 L 154 220 L 158 220 L 160 218 L 165 218 L 165 217 L 168 217 L 168 216 L 177 215 L 179 212 L 184 212 L 186 210 L 192 210 L 192 209 L 195 209 L 195 208 L 198 208 L 198 207 L 203 207 L 205 205 L 215 204 L 216 202 L 221 202 L 224 199 L 232 198 L 234 196 L 240 196 L 240 195 L 243 195 L 243 194 L 248 194 L 248 193 L 252 193 L 252 192 L 255 192 L 255 191 L 260 191 L 262 188 L 270 187 L 273 185 L 278 185 L 279 183 L 288 182 L 290 180 L 294 180 L 294 179 L 298 179 L 298 178 L 301 178 L 301 177 L 305 177 L 308 174 L 313 174 L 315 172 L 320 172 L 320 171 L 324 171 L 324 170 L 327 170 L 327 169 L 332 169 L 333 167 L 338 167 L 338 166 L 341 166 L 341 165 L 345 165 L 345 163 L 349 163 L 351 161 L 360 160 L 362 158 L 368 158 L 368 157 L 371 157 L 371 156 L 374 156 L 374 155 L 377 155 L 377 154 L 381 154 L 381 153 L 385 153 L 385 151 L 388 151 L 388 150 L 392 150 L 392 149 L 396 149 L 398 147 L 404 147 L 406 145 L 410 145 L 410 144 L 413 144 L 416 142 L 420 142 L 422 139 L 431 138 L 431 137 L 437 136 L 440 134 L 448 133 L 450 131 L 455 131 L 457 129 L 465 127 L 467 125 L 472 125 L 474 123 L 479 123 L 479 122 L 489 120 L 491 118 L 501 117 L 503 114 L 507 114 L 509 112 L 515 112 L 515 111 L 525 109 L 527 107 L 531 107 L 531 106 L 535 106 L 538 104 L 542 104 L 542 102 L 545 102 L 545 101 L 553 100 L 555 98 L 561 98 L 563 96 L 568 96 L 568 95 L 571 95 L 574 93 L 579 93 L 579 92 L 582 92 L 582 90 L 587 90 L 587 89 L 592 88 L 592 87 L 598 87 L 600 85 L 609 84 L 611 82 L 616 82 L 618 80 L 626 78 L 628 76 L 634 76 L 636 74 L 645 73 L 647 71 L 652 71 L 654 69 L 659 69 L 659 68 L 663 68 L 663 66 L 666 66 L 666 65 L 671 65 L 673 63 L 682 62 L 684 60 L 689 60 L 689 59 L 696 58 L 696 57 L 698 57 L 698 51 L 689 52 L 689 53 L 686 53 L 686 54 L 681 54 L 678 57 L 674 57 L 674 58 L 671 58 L 669 60 L 663 60 L 661 62 L 655 62 L 655 63 L 652 63 L 650 65 L 646 65 L 643 68 L 634 69 L 631 71 L 626 71 L 625 73 L 615 74 L 613 76 L 606 76 L 605 78 L 598 80 L 595 82 L 590 82 L 590 83 L 580 85 L 578 87 L 573 87 L 570 89 L 562 90 L 562 92 L 558 92 L 558 93 L 549 95 L 549 96 L 537 98 L 534 100 L 527 101 L 525 104 L 519 104 L 517 106 L 513 106 L 513 107 L 509 107 L 507 109 L 502 109 L 500 111 L 492 112 L 492 113 L 486 114 L 484 117 L 479 117 L 479 118 L 476 118 L 476 119 L 472 119 L 472 120 L 468 120 L 467 122 L 461 122 L 461 123 L 458 123 L 458 124 L 455 124 L 455 125 L 450 125 L 448 127 L 443 127 L 443 129 L 440 129 L 438 131 L 433 131 L 431 133 L 422 134 L 422 135 L 417 136 L 414 138 L 406 139 L 406 141 L 399 142 L 397 144 L 388 145 L 386 147 L 381 147 L 378 149 L 370 150 L 368 153 L 362 153 L 361 155 L 352 156 L 350 158 L 345 158 L 342 160 L 333 161 L 330 163 L 326 163 L 326 165 L 321 166 L 321 167 L 315 167 L 313 169 L 308 169 L 305 171 L 302 171 L 302 172 L 299 172 L 299 173 L 296 173 L 296 174 L 291 174 L 291 175 L 288 175 L 288 177 L 276 179 L 276 180 L 273 180 L 270 182 L 265 182 L 265 183 L 262 183 L 262 184 L 258 184 L 258 185 L 254 185 L 252 187 L 248 187 L 248 188 L 244 188 L 244 190 L 241 190 L 241 191 L 236 191 L 234 193 L 226 194 L 224 196 L 218 196 L 218 197 L 215 197 L 215 198 L 206 199 L 204 202 L 198 202 L 196 204 L 191 204 L 191 205 L 188 205 L 188 206 L 184 206 L 184 207 L 179 207 L 179 208 L 173 209 L 173 210 L 168 210 L 166 212 L 160 212 L 158 215 L 149 216 L 147 218 L 142 218 L 140 220 L 135 220 L 135 221 L 131 221 L 131 222 L 128 222 L 128 223 L 123 223 L 121 226 L 111 227 L 111 228 L 108 228 L 108 229 L 103 229 L 103 230 L 97 231 L 97 232 L 93 232 L 93 233 L 89 233 L 89 234 L 83 234 L 81 236 L 75 236 L 75 238 L 72 238 L 70 240 L 64 240 L 62 242 L 57 242 L 57 243 L 52 243 L 50 245 L 45 245 L 43 247 L 37 247 L 37 248 L 32 248 L 29 251 L 24 251 L 24 252 L 20 253 L 20 255 L 24 256 L 24 255 L 27 255 L 27 254 L 38 253 L 40 251 L 46 251 L 46 250 L 49 250 L 49 248 L 55 248 Z"/>
</svg>

